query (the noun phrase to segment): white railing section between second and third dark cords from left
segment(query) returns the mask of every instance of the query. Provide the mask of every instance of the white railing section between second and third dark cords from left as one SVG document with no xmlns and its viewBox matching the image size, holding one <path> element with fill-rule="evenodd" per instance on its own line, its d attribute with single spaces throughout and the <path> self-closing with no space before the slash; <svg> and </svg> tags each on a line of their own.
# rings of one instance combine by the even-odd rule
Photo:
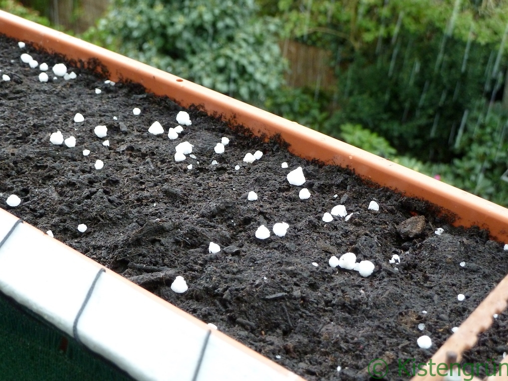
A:
<svg viewBox="0 0 508 381">
<path fill-rule="evenodd" d="M 140 380 L 191 380 L 207 331 L 107 272 L 78 323 L 86 346 Z"/>
</svg>

